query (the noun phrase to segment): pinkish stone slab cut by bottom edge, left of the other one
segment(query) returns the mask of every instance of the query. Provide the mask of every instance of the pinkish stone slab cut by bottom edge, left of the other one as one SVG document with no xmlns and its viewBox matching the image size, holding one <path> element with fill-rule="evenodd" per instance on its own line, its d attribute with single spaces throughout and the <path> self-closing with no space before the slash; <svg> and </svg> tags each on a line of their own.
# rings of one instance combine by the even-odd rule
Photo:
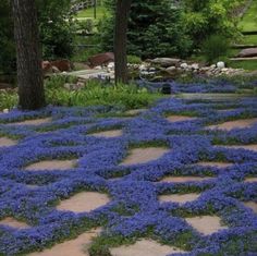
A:
<svg viewBox="0 0 257 256">
<path fill-rule="evenodd" d="M 28 254 L 28 256 L 89 256 L 87 248 L 91 240 L 100 233 L 100 229 L 81 234 L 74 240 L 53 245 L 42 252 Z"/>
</svg>

